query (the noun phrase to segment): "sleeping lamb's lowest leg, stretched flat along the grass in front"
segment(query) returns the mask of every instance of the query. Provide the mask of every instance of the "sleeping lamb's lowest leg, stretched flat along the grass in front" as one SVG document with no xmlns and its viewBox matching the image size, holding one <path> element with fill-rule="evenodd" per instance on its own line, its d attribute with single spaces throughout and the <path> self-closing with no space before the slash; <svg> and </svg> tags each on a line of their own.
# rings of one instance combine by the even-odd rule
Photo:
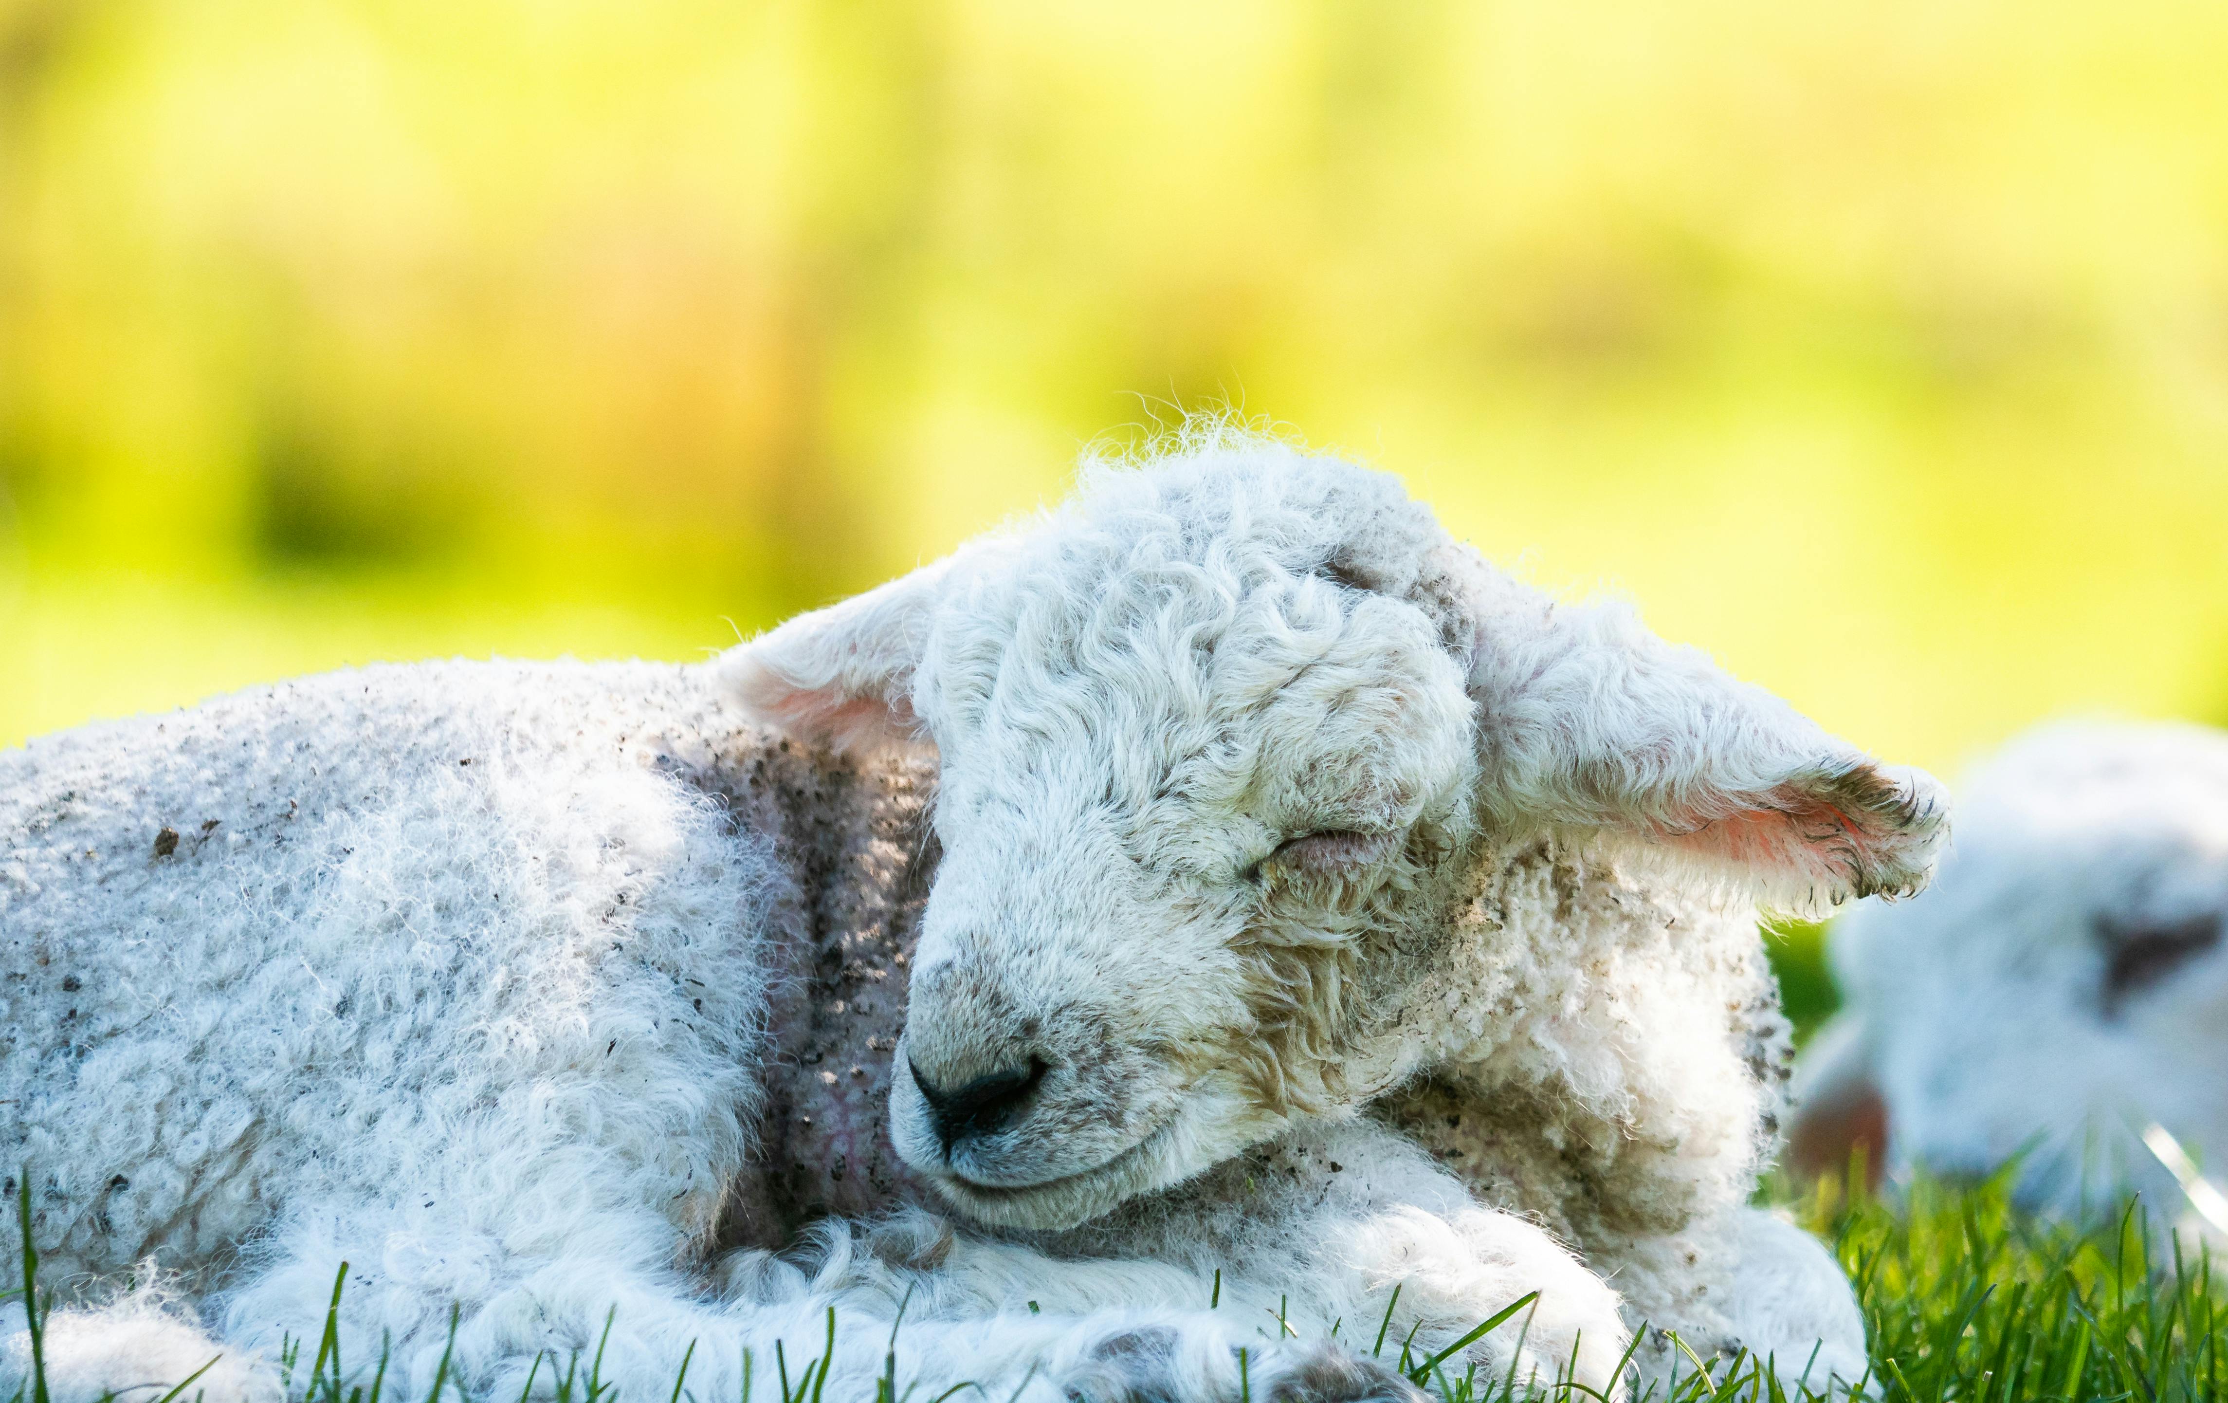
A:
<svg viewBox="0 0 2228 1403">
<path fill-rule="evenodd" d="M 753 1387 L 780 1387 L 786 1370 L 795 1392 L 807 1370 L 824 1367 L 815 1392 L 869 1399 L 896 1338 L 898 1392 L 918 1385 L 927 1399 L 976 1383 L 1020 1403 L 1237 1403 L 1243 1392 L 1288 1403 L 1415 1401 L 1390 1370 L 1317 1343 L 1259 1338 L 1212 1312 L 1139 1303 L 998 1316 L 940 1298 L 931 1281 L 900 1323 L 902 1274 L 824 1274 L 722 1301 L 657 1265 L 671 1245 L 664 1223 L 617 1214 L 575 1223 L 564 1249 L 546 1256 L 504 1254 L 492 1234 L 455 1225 L 428 1234 L 377 1216 L 296 1214 L 281 1249 L 261 1254 L 261 1269 L 227 1292 L 223 1334 L 265 1358 L 283 1334 L 314 1352 L 345 1258 L 341 1370 L 365 1383 L 383 1361 L 390 1396 L 423 1396 L 443 1367 L 470 1396 L 517 1396 L 530 1376 L 546 1394 L 566 1370 L 575 1381 L 595 1370 L 597 1385 L 633 1401 L 673 1396 L 677 1381 L 695 1399 L 735 1399 L 746 1370 Z"/>
</svg>

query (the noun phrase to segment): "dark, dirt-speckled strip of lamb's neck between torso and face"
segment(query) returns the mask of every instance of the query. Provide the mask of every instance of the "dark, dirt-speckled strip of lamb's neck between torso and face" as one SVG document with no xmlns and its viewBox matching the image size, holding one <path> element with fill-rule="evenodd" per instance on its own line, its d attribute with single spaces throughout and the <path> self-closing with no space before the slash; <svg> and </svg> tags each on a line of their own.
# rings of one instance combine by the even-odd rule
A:
<svg viewBox="0 0 2228 1403">
<path fill-rule="evenodd" d="M 889 1142 L 889 1082 L 938 860 L 936 771 L 784 742 L 722 771 L 735 822 L 775 835 L 793 895 L 771 922 L 766 1100 L 717 1247 L 780 1249 L 820 1218 L 922 1196 Z"/>
</svg>

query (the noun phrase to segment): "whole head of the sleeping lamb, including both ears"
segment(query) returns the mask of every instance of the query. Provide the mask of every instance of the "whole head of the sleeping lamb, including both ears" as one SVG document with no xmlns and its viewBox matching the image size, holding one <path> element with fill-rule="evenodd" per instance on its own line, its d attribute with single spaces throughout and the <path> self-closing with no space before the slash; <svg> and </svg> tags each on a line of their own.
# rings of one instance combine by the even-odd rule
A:
<svg viewBox="0 0 2228 1403">
<path fill-rule="evenodd" d="M 807 739 L 936 748 L 891 1125 L 1005 1225 L 1085 1220 L 1413 1073 L 1430 1036 L 1388 995 L 1524 837 L 1831 902 L 1921 884 L 1938 828 L 1929 779 L 1497 575 L 1395 479 L 1252 441 L 1085 472 L 724 666 Z"/>
</svg>

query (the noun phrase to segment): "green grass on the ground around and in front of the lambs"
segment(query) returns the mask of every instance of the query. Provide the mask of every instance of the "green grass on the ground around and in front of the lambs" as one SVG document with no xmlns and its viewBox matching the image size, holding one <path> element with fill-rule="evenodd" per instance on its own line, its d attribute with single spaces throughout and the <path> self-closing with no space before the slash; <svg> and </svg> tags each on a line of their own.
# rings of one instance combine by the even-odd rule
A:
<svg viewBox="0 0 2228 1403">
<path fill-rule="evenodd" d="M 29 1176 L 20 1180 L 29 1185 Z M 40 1296 L 38 1254 L 29 1243 L 29 1189 L 20 1189 L 18 1229 L 25 1234 L 22 1292 Z M 1872 1374 L 1860 1392 L 1880 1403 L 2183 1403 L 2228 1399 L 2228 1285 L 2208 1258 L 2159 1256 L 2146 1232 L 2141 1205 L 2101 1227 L 2070 1227 L 2036 1220 L 2012 1205 L 2007 1176 L 1978 1185 L 1916 1180 L 1896 1200 L 1840 1194 L 1827 1183 L 1794 1203 L 1796 1216 L 1834 1243 L 1834 1252 L 1856 1283 L 1872 1343 Z M 18 1292 L 9 1292 L 9 1298 Z M 51 1305 L 51 1301 L 42 1301 Z M 1515 1372 L 1459 1374 L 1450 1356 L 1473 1338 L 1526 1327 L 1531 1296 L 1457 1341 L 1424 1356 L 1388 1330 L 1375 1332 L 1372 1352 L 1426 1385 L 1446 1403 L 1582 1403 L 1600 1396 L 1580 1385 L 1519 1379 Z M 303 1343 L 283 1352 L 290 1403 L 419 1403 L 385 1394 L 383 1367 L 365 1381 L 363 1370 L 343 1374 L 336 1323 L 345 1312 L 334 1283 L 323 1338 L 303 1367 Z M 33 1312 L 31 1381 L 9 1403 L 47 1403 Z M 1388 1307 L 1390 1318 L 1390 1307 Z M 1281 1327 L 1281 1325 L 1279 1325 Z M 455 1316 L 450 1323 L 455 1330 Z M 604 1338 L 624 1330 L 606 1323 Z M 840 1321 L 829 1312 L 818 1358 L 780 1358 L 775 1370 L 758 1370 L 758 1403 L 824 1403 L 827 1367 Z M 876 1332 L 882 1325 L 873 1325 Z M 882 1376 L 873 1399 L 856 1403 L 947 1403 L 983 1390 L 927 1392 L 898 1374 L 891 1327 Z M 1689 1356 L 1691 1358 L 1691 1356 Z M 546 1370 L 544 1370 L 546 1363 Z M 557 1403 L 613 1403 L 613 1385 L 602 1379 L 602 1347 L 586 1358 L 537 1361 L 535 1379 Z M 1682 1370 L 1669 1385 L 1651 1385 L 1642 1403 L 1814 1403 L 1809 1392 L 1789 1396 L 1756 1358 L 1704 1361 Z M 686 1390 L 688 1363 L 664 1403 Z M 1794 1372 L 1794 1370 L 1789 1370 Z M 751 1403 L 753 1372 L 744 1372 Z M 528 1390 L 532 1390 L 532 1379 Z M 1250 1387 L 1245 1390 L 1250 1392 Z M 152 1403 L 192 1399 L 192 1381 Z M 987 1399 L 987 1396 L 985 1396 Z M 149 1403 L 134 1399 L 134 1403 Z M 470 1396 L 448 1376 L 446 1356 L 423 1403 L 497 1403 Z M 501 1401 L 501 1403 L 508 1403 Z M 648 1401 L 659 1403 L 659 1401 Z M 697 1399 L 695 1403 L 715 1403 Z M 827 1403 L 840 1403 L 833 1394 Z M 1007 1403 L 987 1399 L 987 1403 Z M 1250 1403 L 1243 1399 L 1241 1403 Z"/>
</svg>

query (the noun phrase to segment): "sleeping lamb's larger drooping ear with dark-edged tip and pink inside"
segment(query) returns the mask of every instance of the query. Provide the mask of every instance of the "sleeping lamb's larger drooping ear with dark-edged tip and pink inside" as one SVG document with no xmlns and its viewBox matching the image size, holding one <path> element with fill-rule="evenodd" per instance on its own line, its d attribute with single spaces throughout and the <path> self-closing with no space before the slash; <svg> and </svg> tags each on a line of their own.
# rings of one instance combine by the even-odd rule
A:
<svg viewBox="0 0 2228 1403">
<path fill-rule="evenodd" d="M 1947 795 L 1874 762 L 1615 604 L 1502 581 L 1470 690 L 1488 813 L 1620 833 L 1818 911 L 1909 895 L 1934 873 Z"/>
</svg>

